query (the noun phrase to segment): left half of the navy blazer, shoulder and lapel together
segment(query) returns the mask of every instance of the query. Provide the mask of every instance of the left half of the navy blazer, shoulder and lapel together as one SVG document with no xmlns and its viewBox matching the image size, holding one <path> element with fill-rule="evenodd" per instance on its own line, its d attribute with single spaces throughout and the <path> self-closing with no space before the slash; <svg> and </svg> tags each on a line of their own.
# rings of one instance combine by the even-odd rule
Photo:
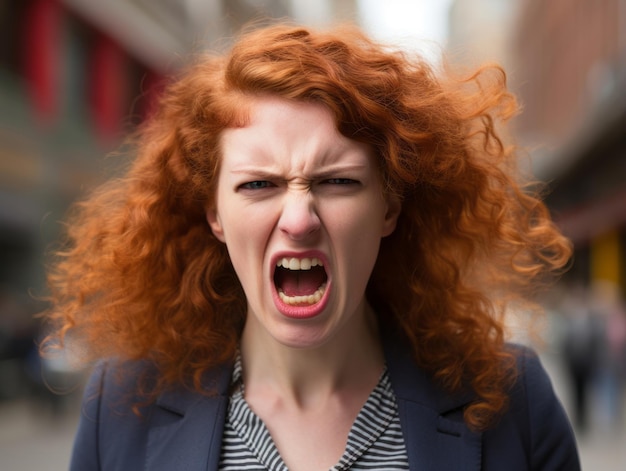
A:
<svg viewBox="0 0 626 471">
<path fill-rule="evenodd" d="M 71 471 L 194 469 L 182 463 L 216 462 L 227 397 L 210 391 L 228 384 L 229 365 L 207 371 L 207 394 L 174 385 L 155 398 L 143 395 L 158 374 L 149 361 L 95 365 L 85 388 Z"/>
</svg>

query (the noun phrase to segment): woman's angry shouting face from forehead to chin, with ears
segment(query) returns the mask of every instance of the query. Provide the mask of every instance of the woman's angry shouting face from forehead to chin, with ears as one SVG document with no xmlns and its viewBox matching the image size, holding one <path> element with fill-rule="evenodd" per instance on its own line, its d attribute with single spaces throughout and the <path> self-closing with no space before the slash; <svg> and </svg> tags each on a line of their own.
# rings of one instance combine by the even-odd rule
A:
<svg viewBox="0 0 626 471">
<path fill-rule="evenodd" d="M 221 144 L 207 220 L 246 294 L 246 330 L 294 347 L 356 331 L 400 206 L 384 198 L 372 150 L 339 134 L 321 105 L 271 97 Z"/>
</svg>

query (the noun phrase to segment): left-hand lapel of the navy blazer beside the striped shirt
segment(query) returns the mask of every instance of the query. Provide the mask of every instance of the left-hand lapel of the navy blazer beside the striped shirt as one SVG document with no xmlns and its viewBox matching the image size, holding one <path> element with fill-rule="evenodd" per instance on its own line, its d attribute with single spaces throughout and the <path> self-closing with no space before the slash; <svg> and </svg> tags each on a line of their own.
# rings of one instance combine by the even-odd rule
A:
<svg viewBox="0 0 626 471">
<path fill-rule="evenodd" d="M 217 469 L 230 375 L 230 365 L 207 375 L 213 383 L 211 389 L 217 386 L 218 394 L 214 396 L 179 389 L 159 397 L 150 417 L 146 470 Z"/>
</svg>

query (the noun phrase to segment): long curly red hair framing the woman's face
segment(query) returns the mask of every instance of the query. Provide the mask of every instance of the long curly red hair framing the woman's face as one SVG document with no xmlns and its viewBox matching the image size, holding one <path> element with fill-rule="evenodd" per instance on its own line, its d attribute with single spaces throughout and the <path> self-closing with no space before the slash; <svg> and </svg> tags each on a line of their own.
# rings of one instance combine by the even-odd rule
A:
<svg viewBox="0 0 626 471">
<path fill-rule="evenodd" d="M 447 388 L 469 382 L 478 400 L 466 421 L 487 427 L 515 376 L 504 309 L 558 272 L 570 245 L 496 130 L 518 109 L 503 71 L 455 79 L 352 27 L 251 31 L 172 81 L 125 175 L 74 207 L 49 274 L 55 337 L 89 358 L 153 361 L 153 394 L 200 389 L 204 371 L 233 358 L 245 296 L 205 211 L 221 132 L 245 123 L 258 95 L 322 103 L 342 134 L 376 149 L 402 213 L 367 297 Z"/>
</svg>

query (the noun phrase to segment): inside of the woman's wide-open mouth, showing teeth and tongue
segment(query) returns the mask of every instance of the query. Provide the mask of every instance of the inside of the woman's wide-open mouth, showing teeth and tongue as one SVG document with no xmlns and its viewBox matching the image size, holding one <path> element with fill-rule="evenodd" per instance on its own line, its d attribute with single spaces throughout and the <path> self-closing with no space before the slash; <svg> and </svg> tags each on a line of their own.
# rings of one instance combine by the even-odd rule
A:
<svg viewBox="0 0 626 471">
<path fill-rule="evenodd" d="M 290 306 L 311 306 L 318 303 L 328 276 L 318 258 L 284 257 L 276 262 L 274 284 L 281 301 Z"/>
</svg>

